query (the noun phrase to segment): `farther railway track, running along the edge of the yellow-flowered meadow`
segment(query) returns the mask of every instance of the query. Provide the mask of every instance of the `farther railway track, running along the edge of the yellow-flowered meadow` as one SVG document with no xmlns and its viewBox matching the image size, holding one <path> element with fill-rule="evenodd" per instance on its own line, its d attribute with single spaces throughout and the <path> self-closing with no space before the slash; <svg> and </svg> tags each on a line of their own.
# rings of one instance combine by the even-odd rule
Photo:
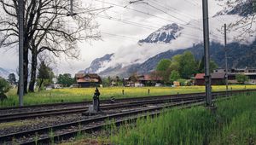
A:
<svg viewBox="0 0 256 145">
<path fill-rule="evenodd" d="M 241 92 L 250 92 L 255 90 L 233 90 L 228 91 L 228 94 L 236 94 Z M 220 91 L 220 92 L 214 92 L 212 93 L 212 96 L 223 96 L 226 92 Z M 160 102 L 174 102 L 177 98 L 183 98 L 183 100 L 191 99 L 195 96 L 204 96 L 204 93 L 193 93 L 193 94 L 183 94 L 183 95 L 171 95 L 171 96 L 148 96 L 148 97 L 137 97 L 137 98 L 124 98 L 119 99 L 115 103 L 110 103 L 109 101 L 102 101 L 102 109 L 114 109 L 119 107 L 134 107 L 139 105 L 146 105 L 146 104 L 156 104 Z M 84 107 L 64 107 L 64 108 L 58 108 L 58 109 L 47 109 L 49 107 L 49 104 L 47 104 L 45 109 L 41 109 L 40 111 L 27 111 L 27 112 L 18 112 L 18 113 L 6 113 L 0 115 L 0 123 L 3 122 L 9 122 L 14 120 L 21 120 L 21 119 L 33 119 L 37 117 L 47 117 L 52 115 L 61 115 L 61 114 L 67 114 L 67 113 L 83 113 L 88 110 L 88 105 L 91 104 L 91 102 L 79 102 L 84 103 Z M 60 104 L 60 103 L 57 103 Z M 69 103 L 68 103 L 69 104 Z M 53 105 L 53 104 L 51 104 Z M 67 105 L 66 103 L 62 103 L 62 105 Z M 32 106 L 33 107 L 43 107 L 40 106 Z M 24 108 L 20 107 L 19 109 Z M 27 107 L 25 107 L 27 108 Z M 11 108 L 14 109 L 14 108 Z M 5 111 L 8 111 L 4 108 Z M 20 110 L 19 110 L 20 111 Z"/>
</svg>

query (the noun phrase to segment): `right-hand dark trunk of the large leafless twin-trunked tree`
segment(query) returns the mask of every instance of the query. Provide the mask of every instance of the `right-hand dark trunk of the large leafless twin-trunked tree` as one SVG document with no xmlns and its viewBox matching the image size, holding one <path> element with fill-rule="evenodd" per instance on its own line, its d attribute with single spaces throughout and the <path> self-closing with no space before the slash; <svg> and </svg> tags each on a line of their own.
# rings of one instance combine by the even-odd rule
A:
<svg viewBox="0 0 256 145">
<path fill-rule="evenodd" d="M 36 49 L 32 48 L 32 67 L 31 67 L 31 78 L 28 87 L 29 92 L 35 91 L 35 83 L 37 78 L 37 67 L 38 67 L 38 53 Z"/>
</svg>

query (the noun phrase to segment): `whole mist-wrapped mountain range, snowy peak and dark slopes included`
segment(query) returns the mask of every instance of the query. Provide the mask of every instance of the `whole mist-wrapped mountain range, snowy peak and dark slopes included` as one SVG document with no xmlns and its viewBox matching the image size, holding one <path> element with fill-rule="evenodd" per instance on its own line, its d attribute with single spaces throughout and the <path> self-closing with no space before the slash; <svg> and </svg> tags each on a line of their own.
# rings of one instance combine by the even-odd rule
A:
<svg viewBox="0 0 256 145">
<path fill-rule="evenodd" d="M 245 12 L 246 8 L 249 9 Z M 224 67 L 224 40 L 219 38 L 223 35 L 220 32 L 222 24 L 219 20 L 227 20 L 227 23 L 239 20 L 251 13 L 250 8 L 247 3 L 237 5 L 233 9 L 218 12 L 210 20 L 210 55 L 219 67 Z M 162 26 L 147 38 L 139 40 L 137 44 L 97 58 L 85 72 L 99 73 L 102 77 L 128 77 L 131 73 L 150 73 L 161 59 L 171 59 L 172 56 L 182 54 L 186 50 L 191 51 L 196 60 L 201 60 L 204 52 L 202 32 L 191 27 L 202 27 L 202 21 L 191 21 L 187 25 L 179 26 L 172 23 Z M 245 36 L 246 41 L 239 42 L 235 39 L 236 35 L 239 34 L 234 31 L 228 34 L 229 67 L 256 67 L 256 58 L 253 57 L 256 55 L 255 36 Z"/>
</svg>

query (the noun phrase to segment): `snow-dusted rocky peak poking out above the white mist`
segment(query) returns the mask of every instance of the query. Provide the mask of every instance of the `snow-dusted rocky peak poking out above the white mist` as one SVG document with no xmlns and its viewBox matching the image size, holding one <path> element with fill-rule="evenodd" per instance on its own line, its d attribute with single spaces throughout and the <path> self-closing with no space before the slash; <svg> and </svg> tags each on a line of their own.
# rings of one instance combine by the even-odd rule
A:
<svg viewBox="0 0 256 145">
<path fill-rule="evenodd" d="M 157 31 L 151 33 L 148 38 L 139 40 L 139 43 L 171 43 L 173 39 L 180 36 L 182 29 L 183 27 L 178 26 L 176 23 L 162 26 Z"/>
</svg>

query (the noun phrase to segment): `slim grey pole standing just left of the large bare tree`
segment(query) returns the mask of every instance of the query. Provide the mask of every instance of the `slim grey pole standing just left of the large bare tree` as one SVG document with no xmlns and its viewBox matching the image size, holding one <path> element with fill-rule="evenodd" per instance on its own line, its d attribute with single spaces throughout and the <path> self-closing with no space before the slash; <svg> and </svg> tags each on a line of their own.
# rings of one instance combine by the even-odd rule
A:
<svg viewBox="0 0 256 145">
<path fill-rule="evenodd" d="M 24 81 L 23 81 L 23 44 L 24 44 L 24 2 L 19 0 L 19 104 L 23 106 L 23 95 L 24 95 Z"/>
</svg>

